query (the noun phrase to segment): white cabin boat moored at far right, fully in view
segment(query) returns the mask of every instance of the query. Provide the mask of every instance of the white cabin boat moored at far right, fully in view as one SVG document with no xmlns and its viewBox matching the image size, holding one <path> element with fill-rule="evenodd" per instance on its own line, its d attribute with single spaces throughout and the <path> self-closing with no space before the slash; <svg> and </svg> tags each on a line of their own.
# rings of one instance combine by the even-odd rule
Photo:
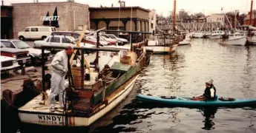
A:
<svg viewBox="0 0 256 133">
<path fill-rule="evenodd" d="M 227 44 L 227 45 L 246 45 L 246 35 L 244 33 L 233 33 L 230 34 L 228 38 L 219 39 L 219 44 Z"/>
</svg>

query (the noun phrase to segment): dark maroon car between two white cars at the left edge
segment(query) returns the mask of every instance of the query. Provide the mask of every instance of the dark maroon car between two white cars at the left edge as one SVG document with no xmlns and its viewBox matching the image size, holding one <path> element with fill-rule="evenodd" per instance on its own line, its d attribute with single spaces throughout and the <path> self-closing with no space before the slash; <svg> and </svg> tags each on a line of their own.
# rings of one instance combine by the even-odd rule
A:
<svg viewBox="0 0 256 133">
<path fill-rule="evenodd" d="M 19 65 L 31 64 L 31 58 L 27 50 L 9 48 L 1 43 L 1 55 L 16 58 Z"/>
</svg>

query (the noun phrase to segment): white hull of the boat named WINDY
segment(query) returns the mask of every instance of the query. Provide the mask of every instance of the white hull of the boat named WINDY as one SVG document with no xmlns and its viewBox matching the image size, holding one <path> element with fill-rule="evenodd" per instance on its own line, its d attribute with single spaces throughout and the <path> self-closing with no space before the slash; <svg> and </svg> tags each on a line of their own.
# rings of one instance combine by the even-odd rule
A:
<svg viewBox="0 0 256 133">
<path fill-rule="evenodd" d="M 127 86 L 125 86 L 125 89 L 117 92 L 117 94 L 115 94 L 115 96 L 108 101 L 108 105 L 103 104 L 102 106 L 100 106 L 99 112 L 96 112 L 91 116 L 72 115 L 72 113 L 68 114 L 68 126 L 89 126 L 91 125 L 91 123 L 95 122 L 100 117 L 110 112 L 112 109 L 114 109 L 115 106 L 121 103 L 122 100 L 124 100 L 125 97 L 131 92 L 138 76 L 139 75 L 134 75 L 134 77 L 131 78 L 131 81 L 128 81 L 129 83 Z M 42 95 L 39 95 L 30 102 L 39 103 L 41 101 L 41 98 Z M 47 106 L 39 110 L 40 111 L 36 111 L 36 109 L 33 108 L 33 110 L 31 111 L 27 111 L 25 107 L 24 109 L 21 108 L 19 109 L 19 118 L 22 123 L 33 123 L 44 126 L 65 126 L 66 117 L 62 114 L 62 112 L 50 113 L 49 107 Z"/>
</svg>

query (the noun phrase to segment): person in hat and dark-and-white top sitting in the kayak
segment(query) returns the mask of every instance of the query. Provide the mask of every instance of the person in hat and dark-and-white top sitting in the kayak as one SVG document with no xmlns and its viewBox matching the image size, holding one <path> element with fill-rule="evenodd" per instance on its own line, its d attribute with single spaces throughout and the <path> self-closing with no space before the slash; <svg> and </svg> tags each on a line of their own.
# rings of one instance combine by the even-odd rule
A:
<svg viewBox="0 0 256 133">
<path fill-rule="evenodd" d="M 197 98 L 193 98 L 192 100 L 214 100 L 217 97 L 216 88 L 213 85 L 213 80 L 206 82 L 206 89 L 203 95 L 200 95 Z"/>
</svg>

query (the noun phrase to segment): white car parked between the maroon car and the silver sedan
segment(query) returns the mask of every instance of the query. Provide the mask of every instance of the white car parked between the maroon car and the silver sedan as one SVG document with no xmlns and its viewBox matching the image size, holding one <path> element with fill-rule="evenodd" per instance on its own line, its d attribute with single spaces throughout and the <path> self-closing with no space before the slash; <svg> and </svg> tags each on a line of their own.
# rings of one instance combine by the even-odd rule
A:
<svg viewBox="0 0 256 133">
<path fill-rule="evenodd" d="M 16 40 L 16 39 L 3 39 L 1 43 L 6 47 L 27 50 L 29 52 L 29 56 L 31 58 L 31 63 L 41 63 L 42 62 L 42 50 L 33 49 L 24 41 Z M 50 61 L 52 59 L 52 55 L 50 55 L 50 51 L 45 50 L 45 61 Z"/>
</svg>

